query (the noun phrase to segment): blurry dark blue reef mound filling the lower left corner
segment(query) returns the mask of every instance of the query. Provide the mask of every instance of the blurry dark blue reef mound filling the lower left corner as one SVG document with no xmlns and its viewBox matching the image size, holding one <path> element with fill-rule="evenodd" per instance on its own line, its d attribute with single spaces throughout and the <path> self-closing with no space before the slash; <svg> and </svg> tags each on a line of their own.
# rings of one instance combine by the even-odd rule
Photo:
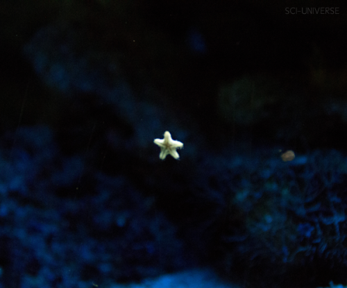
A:
<svg viewBox="0 0 347 288">
<path fill-rule="evenodd" d="M 0 146 L 0 287 L 90 287 L 186 265 L 153 201 L 125 177 L 83 172 L 49 128 L 19 128 Z"/>
</svg>

